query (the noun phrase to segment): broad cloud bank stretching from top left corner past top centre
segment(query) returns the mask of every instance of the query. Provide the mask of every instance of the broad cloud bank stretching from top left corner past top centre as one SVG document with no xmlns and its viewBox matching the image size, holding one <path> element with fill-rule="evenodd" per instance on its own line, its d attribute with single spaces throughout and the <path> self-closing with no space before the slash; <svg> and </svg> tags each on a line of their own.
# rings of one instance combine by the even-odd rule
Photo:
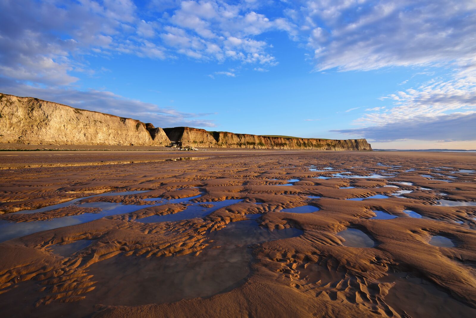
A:
<svg viewBox="0 0 476 318">
<path fill-rule="evenodd" d="M 152 0 L 146 9 L 160 12 L 157 18 L 132 0 L 1 1 L 0 75 L 71 85 L 78 80 L 72 72 L 94 72 L 83 57 L 115 54 L 277 65 L 267 52 L 270 44 L 255 37 L 269 30 L 291 34 L 293 26 L 256 8 L 249 2 Z"/>
</svg>

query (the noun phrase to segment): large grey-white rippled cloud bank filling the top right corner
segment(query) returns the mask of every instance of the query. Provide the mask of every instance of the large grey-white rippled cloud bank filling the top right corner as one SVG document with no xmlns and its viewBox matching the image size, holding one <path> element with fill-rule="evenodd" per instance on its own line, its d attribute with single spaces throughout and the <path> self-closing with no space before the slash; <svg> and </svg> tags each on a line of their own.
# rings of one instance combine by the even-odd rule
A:
<svg viewBox="0 0 476 318">
<path fill-rule="evenodd" d="M 309 0 L 288 16 L 317 70 L 373 70 L 474 57 L 474 0 Z"/>
</svg>

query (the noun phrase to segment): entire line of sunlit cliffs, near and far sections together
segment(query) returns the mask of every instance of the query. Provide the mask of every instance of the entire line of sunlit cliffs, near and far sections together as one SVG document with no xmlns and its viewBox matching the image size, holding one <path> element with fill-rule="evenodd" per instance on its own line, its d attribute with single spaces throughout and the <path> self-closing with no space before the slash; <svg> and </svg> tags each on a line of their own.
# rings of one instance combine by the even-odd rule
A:
<svg viewBox="0 0 476 318">
<path fill-rule="evenodd" d="M 236 134 L 150 123 L 46 100 L 0 93 L 0 143 L 372 150 L 366 139 L 307 139 Z"/>
</svg>

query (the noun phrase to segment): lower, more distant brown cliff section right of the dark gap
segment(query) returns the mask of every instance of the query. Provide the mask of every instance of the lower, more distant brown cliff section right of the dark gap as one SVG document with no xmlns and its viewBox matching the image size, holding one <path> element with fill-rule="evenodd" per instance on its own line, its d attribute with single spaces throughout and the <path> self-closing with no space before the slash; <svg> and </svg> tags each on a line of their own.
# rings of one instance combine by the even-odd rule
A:
<svg viewBox="0 0 476 318">
<path fill-rule="evenodd" d="M 256 148 L 256 149 L 309 149 L 309 150 L 372 150 L 366 139 L 307 139 L 267 137 L 235 134 L 226 131 L 207 131 L 189 127 L 165 128 L 174 142 L 192 147 Z"/>
</svg>

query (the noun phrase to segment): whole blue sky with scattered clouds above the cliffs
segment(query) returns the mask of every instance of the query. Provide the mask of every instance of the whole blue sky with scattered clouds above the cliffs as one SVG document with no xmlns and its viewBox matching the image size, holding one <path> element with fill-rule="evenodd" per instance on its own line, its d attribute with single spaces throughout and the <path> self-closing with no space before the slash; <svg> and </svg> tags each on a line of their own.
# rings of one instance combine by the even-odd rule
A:
<svg viewBox="0 0 476 318">
<path fill-rule="evenodd" d="M 475 0 L 0 0 L 0 92 L 156 127 L 476 149 Z"/>
</svg>

